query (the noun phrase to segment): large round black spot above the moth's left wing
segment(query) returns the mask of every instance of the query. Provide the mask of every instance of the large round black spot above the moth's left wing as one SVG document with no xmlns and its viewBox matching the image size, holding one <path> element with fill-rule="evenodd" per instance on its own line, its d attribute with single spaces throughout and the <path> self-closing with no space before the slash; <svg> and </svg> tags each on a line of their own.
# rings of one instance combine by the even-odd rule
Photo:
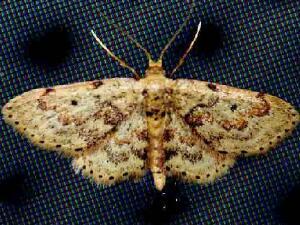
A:
<svg viewBox="0 0 300 225">
<path fill-rule="evenodd" d="M 25 51 L 25 57 L 33 64 L 55 67 L 69 56 L 72 47 L 71 33 L 64 26 L 57 26 L 32 38 Z"/>
</svg>

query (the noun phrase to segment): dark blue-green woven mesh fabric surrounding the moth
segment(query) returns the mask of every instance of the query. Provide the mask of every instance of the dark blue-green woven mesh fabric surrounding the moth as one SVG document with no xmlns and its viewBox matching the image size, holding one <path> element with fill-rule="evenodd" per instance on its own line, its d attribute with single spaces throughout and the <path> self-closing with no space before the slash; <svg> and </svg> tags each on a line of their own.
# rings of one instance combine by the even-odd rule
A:
<svg viewBox="0 0 300 225">
<path fill-rule="evenodd" d="M 194 78 L 266 92 L 300 107 L 299 1 L 195 1 L 187 26 L 166 54 L 176 64 L 176 46 L 199 21 L 214 24 L 221 46 L 209 55 L 189 55 L 176 78 Z M 130 77 L 94 41 L 94 29 L 118 56 L 143 73 L 147 60 L 106 15 L 159 56 L 188 15 L 187 2 L 3 1 L 1 3 L 0 105 L 24 91 L 76 81 Z M 31 63 L 32 38 L 66 27 L 72 45 L 65 60 L 45 68 Z M 200 34 L 201 35 L 201 34 Z M 138 183 L 100 188 L 76 175 L 71 160 L 39 151 L 0 119 L 0 181 L 22 177 L 17 202 L 0 202 L 0 224 L 145 224 L 140 212 L 155 188 L 151 176 Z M 242 158 L 215 184 L 179 183 L 188 210 L 169 224 L 281 224 L 277 207 L 300 185 L 299 128 L 266 156 Z M 1 182 L 0 182 L 1 183 Z"/>
</svg>

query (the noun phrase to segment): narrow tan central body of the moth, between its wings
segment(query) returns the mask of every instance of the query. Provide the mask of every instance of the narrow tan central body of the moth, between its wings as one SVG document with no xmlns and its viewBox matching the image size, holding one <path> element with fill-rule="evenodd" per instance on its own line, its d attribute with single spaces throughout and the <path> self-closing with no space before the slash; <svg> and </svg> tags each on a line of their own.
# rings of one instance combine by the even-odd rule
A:
<svg viewBox="0 0 300 225">
<path fill-rule="evenodd" d="M 160 86 L 160 85 L 158 85 Z M 165 90 L 149 88 L 143 92 L 149 135 L 148 163 L 153 174 L 154 183 L 161 190 L 166 181 L 163 152 L 163 133 L 165 129 Z"/>
</svg>

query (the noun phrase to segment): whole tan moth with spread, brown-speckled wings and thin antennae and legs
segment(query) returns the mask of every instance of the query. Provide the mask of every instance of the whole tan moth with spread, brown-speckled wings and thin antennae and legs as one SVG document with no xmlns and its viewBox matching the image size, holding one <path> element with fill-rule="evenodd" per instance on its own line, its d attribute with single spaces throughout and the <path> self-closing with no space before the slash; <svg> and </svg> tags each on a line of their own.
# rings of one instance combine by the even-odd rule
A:
<svg viewBox="0 0 300 225">
<path fill-rule="evenodd" d="M 265 154 L 291 134 L 299 113 L 268 94 L 172 79 L 192 49 L 201 23 L 167 77 L 162 58 L 186 22 L 158 60 L 125 32 L 149 60 L 143 78 L 92 31 L 108 55 L 134 78 L 31 90 L 2 108 L 4 120 L 41 149 L 71 157 L 75 171 L 97 184 L 139 180 L 149 170 L 158 190 L 169 176 L 209 183 L 227 173 L 238 156 Z"/>
</svg>

